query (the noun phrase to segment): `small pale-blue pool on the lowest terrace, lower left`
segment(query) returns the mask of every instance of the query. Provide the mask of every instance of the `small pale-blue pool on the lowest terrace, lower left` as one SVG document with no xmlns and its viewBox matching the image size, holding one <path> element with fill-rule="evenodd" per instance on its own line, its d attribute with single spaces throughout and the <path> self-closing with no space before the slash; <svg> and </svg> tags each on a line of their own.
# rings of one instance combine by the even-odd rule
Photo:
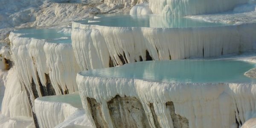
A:
<svg viewBox="0 0 256 128">
<path fill-rule="evenodd" d="M 42 101 L 47 101 L 47 102 L 68 103 L 73 107 L 83 108 L 79 93 L 59 95 L 59 96 L 44 96 L 44 97 L 39 97 L 38 99 Z"/>
</svg>

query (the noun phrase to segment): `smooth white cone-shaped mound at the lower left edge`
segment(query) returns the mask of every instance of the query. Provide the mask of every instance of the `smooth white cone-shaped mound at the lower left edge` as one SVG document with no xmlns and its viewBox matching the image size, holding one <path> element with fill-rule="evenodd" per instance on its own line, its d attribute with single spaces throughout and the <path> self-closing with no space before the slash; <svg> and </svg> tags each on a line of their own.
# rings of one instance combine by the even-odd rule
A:
<svg viewBox="0 0 256 128">
<path fill-rule="evenodd" d="M 3 77 L 6 89 L 0 113 L 1 128 L 35 127 L 26 89 L 17 77 L 15 67 L 8 71 L 6 77 Z"/>
</svg>

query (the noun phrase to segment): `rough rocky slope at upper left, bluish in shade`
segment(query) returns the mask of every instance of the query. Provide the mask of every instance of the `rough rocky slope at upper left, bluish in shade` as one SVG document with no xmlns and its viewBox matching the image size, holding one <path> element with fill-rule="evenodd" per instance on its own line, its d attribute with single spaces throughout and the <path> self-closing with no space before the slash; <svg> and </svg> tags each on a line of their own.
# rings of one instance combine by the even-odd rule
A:
<svg viewBox="0 0 256 128">
<path fill-rule="evenodd" d="M 16 0 L 0 1 L 0 41 L 9 43 L 14 28 L 31 26 L 67 26 L 99 13 L 99 4 L 53 3 L 68 0 Z"/>
</svg>

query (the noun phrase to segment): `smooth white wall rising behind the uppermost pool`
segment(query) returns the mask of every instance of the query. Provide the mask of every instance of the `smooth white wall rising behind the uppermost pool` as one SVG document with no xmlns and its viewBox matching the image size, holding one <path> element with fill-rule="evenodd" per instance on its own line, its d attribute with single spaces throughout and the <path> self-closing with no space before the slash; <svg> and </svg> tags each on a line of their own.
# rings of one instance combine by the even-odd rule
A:
<svg viewBox="0 0 256 128">
<path fill-rule="evenodd" d="M 166 16 L 183 17 L 224 12 L 249 0 L 149 0 L 153 13 Z"/>
</svg>

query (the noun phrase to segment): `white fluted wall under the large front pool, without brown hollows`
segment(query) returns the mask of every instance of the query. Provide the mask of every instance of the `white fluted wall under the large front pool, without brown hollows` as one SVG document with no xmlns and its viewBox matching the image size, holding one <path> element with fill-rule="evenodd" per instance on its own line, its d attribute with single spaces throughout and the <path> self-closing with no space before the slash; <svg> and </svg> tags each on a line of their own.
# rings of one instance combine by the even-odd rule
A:
<svg viewBox="0 0 256 128">
<path fill-rule="evenodd" d="M 188 119 L 189 128 L 237 128 L 256 116 L 253 91 L 255 84 L 171 84 L 81 74 L 77 76 L 76 81 L 89 119 L 95 121 L 90 109 L 92 102 L 89 103 L 87 97 L 95 99 L 99 104 L 97 111 L 102 114 L 97 117 L 105 121 L 109 127 L 116 124 L 114 120 L 118 121 L 111 119 L 109 108 L 109 103 L 112 103 L 110 101 L 116 95 L 138 99 L 143 105 L 151 127 L 158 124 L 163 128 L 173 128 L 177 123 L 172 122 L 170 109 L 166 106 L 168 102 L 173 102 L 177 115 Z M 150 103 L 154 105 L 153 109 Z M 140 109 L 139 112 L 143 110 Z M 155 116 L 157 122 L 154 122 Z M 237 124 L 236 120 L 240 124 Z M 137 122 L 139 124 L 140 120 Z M 97 123 L 95 122 L 93 126 L 96 127 Z"/>
</svg>

